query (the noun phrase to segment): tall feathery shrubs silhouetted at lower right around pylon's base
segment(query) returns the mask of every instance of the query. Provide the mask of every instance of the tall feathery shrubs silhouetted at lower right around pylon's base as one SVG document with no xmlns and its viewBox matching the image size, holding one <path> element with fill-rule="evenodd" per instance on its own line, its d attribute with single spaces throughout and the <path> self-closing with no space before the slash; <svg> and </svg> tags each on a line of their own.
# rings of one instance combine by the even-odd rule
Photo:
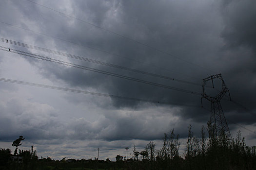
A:
<svg viewBox="0 0 256 170">
<path fill-rule="evenodd" d="M 174 133 L 164 134 L 162 147 L 155 149 L 150 142 L 142 151 L 141 161 L 137 161 L 136 169 L 154 170 L 256 170 L 256 146 L 246 146 L 245 138 L 238 131 L 236 137 L 230 139 L 224 132 L 217 136 L 212 133 L 208 124 L 200 130 L 200 137 L 193 135 L 192 126 L 188 127 L 188 138 L 184 155 L 179 155 L 179 138 Z M 146 155 L 143 155 L 145 152 Z M 138 160 L 138 152 L 134 148 L 134 160 Z"/>
</svg>

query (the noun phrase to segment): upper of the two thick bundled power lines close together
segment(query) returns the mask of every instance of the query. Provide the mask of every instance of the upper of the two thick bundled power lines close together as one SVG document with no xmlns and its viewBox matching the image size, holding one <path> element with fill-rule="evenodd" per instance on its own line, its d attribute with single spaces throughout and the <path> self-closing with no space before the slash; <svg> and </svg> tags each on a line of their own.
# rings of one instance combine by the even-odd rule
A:
<svg viewBox="0 0 256 170">
<path fill-rule="evenodd" d="M 58 54 L 58 55 L 65 56 L 65 57 L 70 57 L 70 58 L 75 58 L 75 59 L 79 59 L 79 60 L 83 60 L 83 61 L 87 61 L 87 62 L 91 62 L 91 63 L 96 63 L 96 64 L 99 64 L 99 65 L 104 65 L 104 66 L 108 66 L 108 67 L 112 67 L 112 68 L 124 69 L 124 70 L 128 70 L 128 71 L 136 72 L 136 73 L 150 75 L 150 76 L 153 76 L 153 77 L 158 77 L 158 78 L 162 78 L 162 79 L 177 81 L 177 82 L 180 82 L 180 83 L 186 83 L 186 84 L 190 84 L 190 85 L 201 86 L 201 84 L 197 84 L 197 83 L 194 83 L 194 82 L 189 82 L 189 81 L 180 80 L 180 79 L 176 79 L 176 78 L 172 78 L 172 77 L 168 77 L 168 76 L 163 76 L 163 75 L 154 74 L 154 73 L 150 73 L 150 72 L 146 72 L 146 71 L 141 71 L 141 70 L 138 70 L 138 69 L 118 66 L 118 65 L 111 64 L 111 63 L 105 63 L 105 62 L 101 62 L 101 61 L 98 61 L 98 60 L 93 60 L 93 59 L 89 59 L 89 58 L 85 58 L 85 57 L 81 57 L 81 56 L 77 56 L 77 55 L 72 55 L 72 54 L 68 54 L 68 53 L 64 53 L 64 52 L 53 51 L 53 50 L 49 50 L 49 49 L 45 49 L 45 48 L 41 48 L 41 47 L 37 47 L 37 46 L 32 46 L 32 45 L 29 45 L 29 44 L 20 43 L 20 42 L 17 42 L 17 41 L 12 41 L 12 40 L 5 39 L 5 38 L 0 38 L 0 41 L 1 42 L 6 42 L 6 43 L 9 43 L 9 44 L 18 45 L 18 46 L 25 47 L 25 48 L 30 48 L 30 49 L 34 49 L 34 50 L 49 52 L 49 53 Z"/>
</svg>

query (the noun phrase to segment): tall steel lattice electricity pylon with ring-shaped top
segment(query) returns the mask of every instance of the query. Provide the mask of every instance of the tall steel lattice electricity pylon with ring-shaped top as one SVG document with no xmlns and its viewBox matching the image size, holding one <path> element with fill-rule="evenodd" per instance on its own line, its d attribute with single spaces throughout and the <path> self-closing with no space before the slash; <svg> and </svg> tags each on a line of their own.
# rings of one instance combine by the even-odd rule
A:
<svg viewBox="0 0 256 170">
<path fill-rule="evenodd" d="M 212 97 L 205 93 L 205 85 L 208 81 L 211 81 L 214 88 L 214 79 L 221 80 L 222 89 L 215 97 Z M 229 93 L 229 90 L 223 78 L 221 77 L 221 74 L 211 75 L 203 79 L 201 103 L 203 98 L 211 102 L 211 118 L 210 118 L 211 127 L 210 128 L 212 128 L 211 129 L 211 133 L 213 133 L 212 135 L 215 136 L 216 138 L 220 136 L 221 133 L 224 133 L 228 139 L 232 139 L 229 131 L 228 123 L 226 121 L 226 118 L 224 116 L 224 113 L 220 104 L 220 100 L 227 92 Z M 229 98 L 230 98 L 230 93 L 229 93 Z M 202 104 L 202 107 L 203 107 L 203 104 Z"/>
</svg>

